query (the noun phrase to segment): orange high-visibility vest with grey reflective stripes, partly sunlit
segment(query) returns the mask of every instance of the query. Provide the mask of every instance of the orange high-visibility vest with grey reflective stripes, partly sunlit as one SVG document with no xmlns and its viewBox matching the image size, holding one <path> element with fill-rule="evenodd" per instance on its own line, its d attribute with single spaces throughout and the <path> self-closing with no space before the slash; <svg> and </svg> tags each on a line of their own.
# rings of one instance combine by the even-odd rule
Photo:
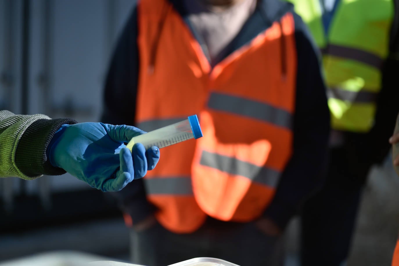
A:
<svg viewBox="0 0 399 266">
<path fill-rule="evenodd" d="M 162 149 L 144 178 L 156 218 L 176 233 L 209 215 L 246 222 L 273 199 L 292 154 L 296 49 L 285 14 L 213 69 L 167 0 L 138 3 L 137 125 L 199 115 L 203 137 Z"/>
</svg>

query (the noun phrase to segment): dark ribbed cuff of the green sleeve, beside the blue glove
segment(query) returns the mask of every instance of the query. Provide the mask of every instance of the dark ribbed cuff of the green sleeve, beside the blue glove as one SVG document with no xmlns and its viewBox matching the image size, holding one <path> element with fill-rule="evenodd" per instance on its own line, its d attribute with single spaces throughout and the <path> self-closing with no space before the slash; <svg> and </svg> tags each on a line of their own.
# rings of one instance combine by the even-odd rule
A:
<svg viewBox="0 0 399 266">
<path fill-rule="evenodd" d="M 33 122 L 22 135 L 15 154 L 17 167 L 27 176 L 65 174 L 62 168 L 54 167 L 47 160 L 47 147 L 54 133 L 63 124 L 76 124 L 70 118 L 39 119 Z"/>
</svg>

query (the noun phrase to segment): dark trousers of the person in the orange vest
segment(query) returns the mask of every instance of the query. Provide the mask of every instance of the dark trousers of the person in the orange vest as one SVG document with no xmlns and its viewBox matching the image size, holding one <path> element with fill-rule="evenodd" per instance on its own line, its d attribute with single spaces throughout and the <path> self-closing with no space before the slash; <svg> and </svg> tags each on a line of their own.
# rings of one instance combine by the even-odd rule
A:
<svg viewBox="0 0 399 266">
<path fill-rule="evenodd" d="M 132 262 L 167 266 L 197 257 L 227 260 L 239 266 L 282 266 L 283 237 L 263 234 L 254 223 L 222 222 L 208 218 L 192 234 L 174 234 L 160 224 L 130 231 Z"/>
</svg>

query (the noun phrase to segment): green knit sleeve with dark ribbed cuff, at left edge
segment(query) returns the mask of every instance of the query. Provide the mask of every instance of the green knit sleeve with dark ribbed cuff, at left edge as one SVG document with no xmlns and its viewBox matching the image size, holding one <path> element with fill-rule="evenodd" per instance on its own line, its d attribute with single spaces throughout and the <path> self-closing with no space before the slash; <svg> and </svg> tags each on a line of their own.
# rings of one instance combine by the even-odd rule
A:
<svg viewBox="0 0 399 266">
<path fill-rule="evenodd" d="M 51 119 L 43 114 L 15 115 L 0 111 L 0 177 L 34 179 L 42 174 L 63 174 L 49 164 L 46 149 L 54 132 L 71 119 Z"/>
</svg>

